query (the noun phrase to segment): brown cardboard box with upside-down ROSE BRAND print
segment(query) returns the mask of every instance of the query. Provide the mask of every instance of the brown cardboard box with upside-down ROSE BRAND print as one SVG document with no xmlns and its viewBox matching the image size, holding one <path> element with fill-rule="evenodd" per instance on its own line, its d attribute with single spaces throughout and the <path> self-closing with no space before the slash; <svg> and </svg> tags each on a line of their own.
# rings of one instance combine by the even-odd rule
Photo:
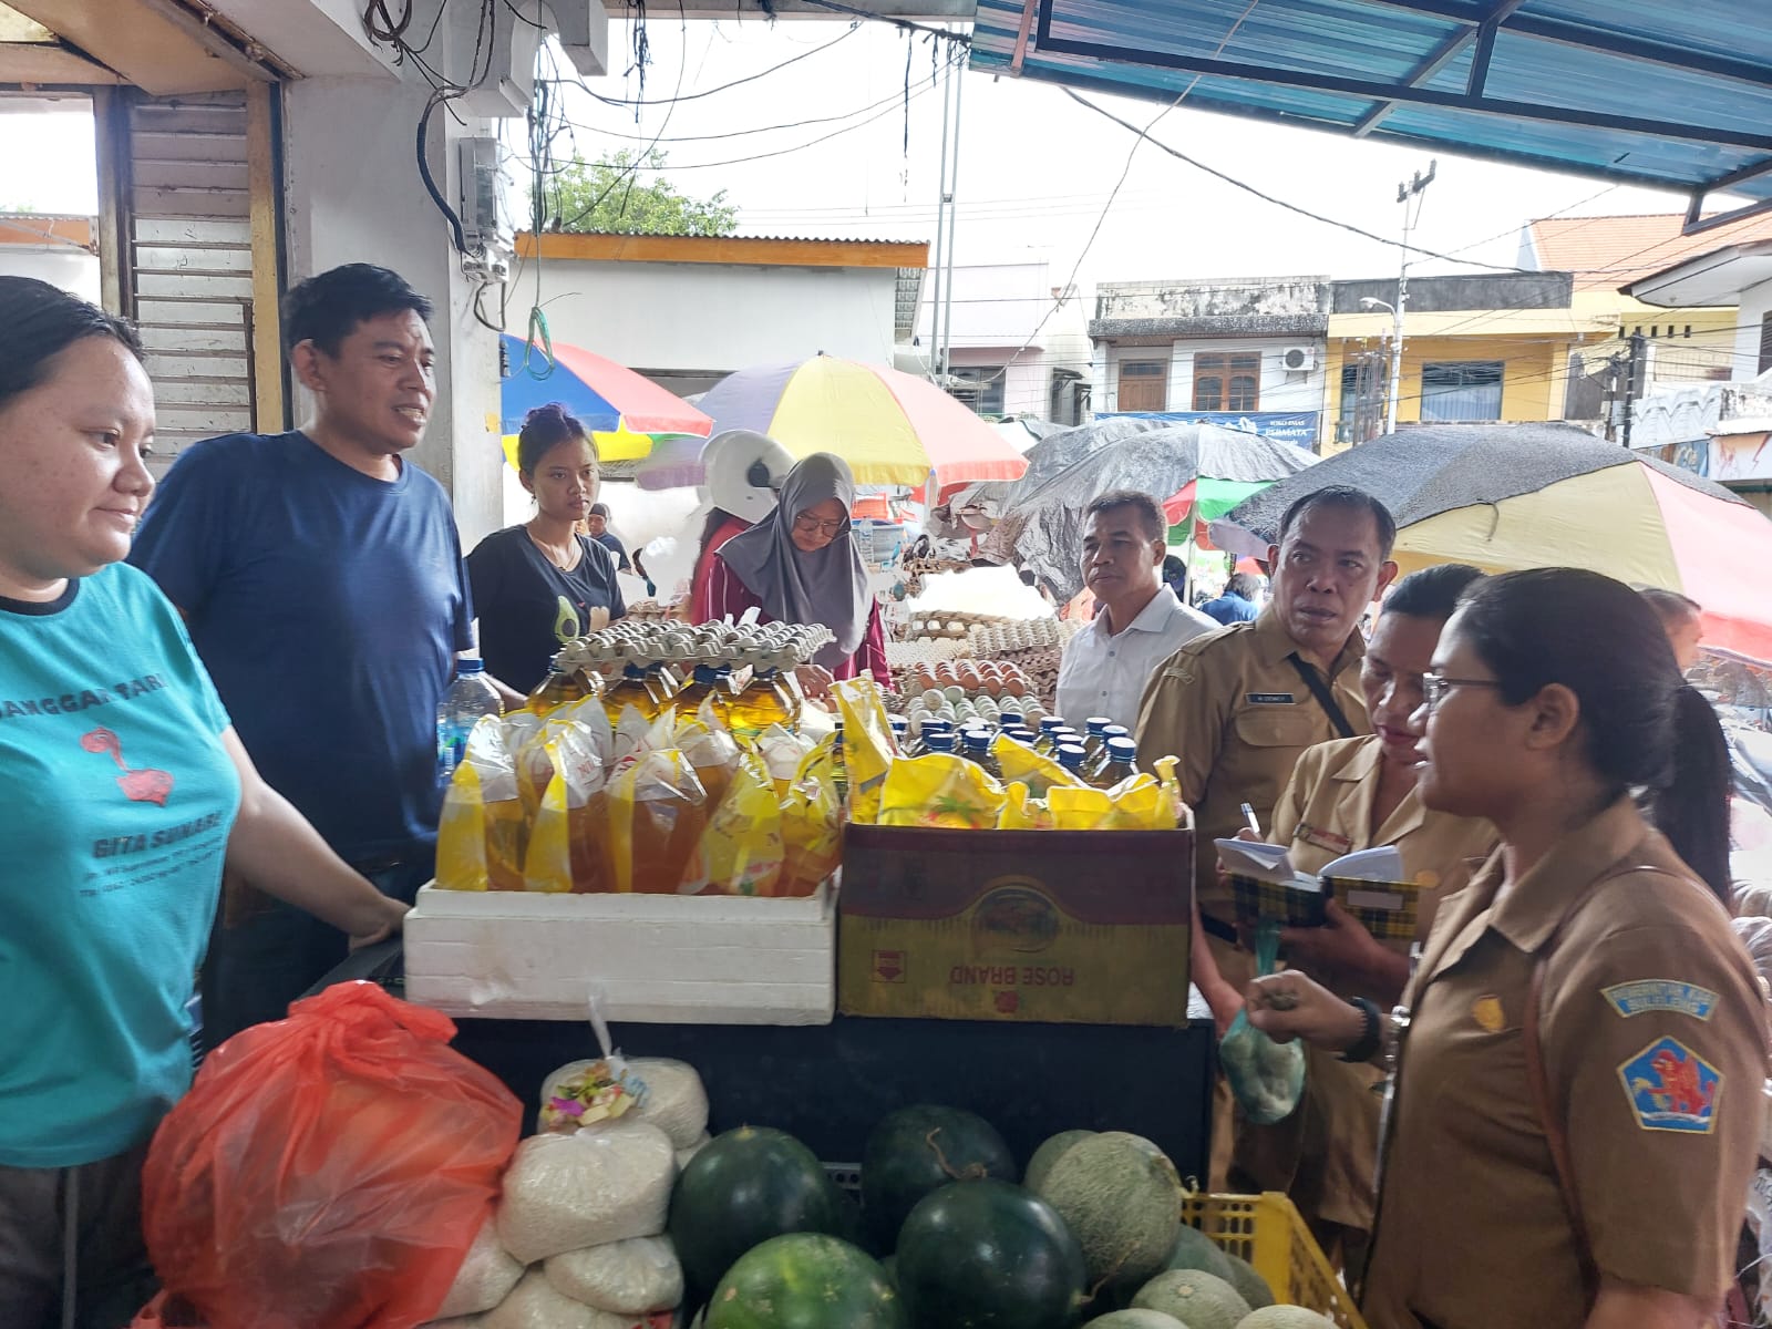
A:
<svg viewBox="0 0 1772 1329">
<path fill-rule="evenodd" d="M 851 826 L 845 1015 L 1187 1024 L 1191 831 Z"/>
</svg>

